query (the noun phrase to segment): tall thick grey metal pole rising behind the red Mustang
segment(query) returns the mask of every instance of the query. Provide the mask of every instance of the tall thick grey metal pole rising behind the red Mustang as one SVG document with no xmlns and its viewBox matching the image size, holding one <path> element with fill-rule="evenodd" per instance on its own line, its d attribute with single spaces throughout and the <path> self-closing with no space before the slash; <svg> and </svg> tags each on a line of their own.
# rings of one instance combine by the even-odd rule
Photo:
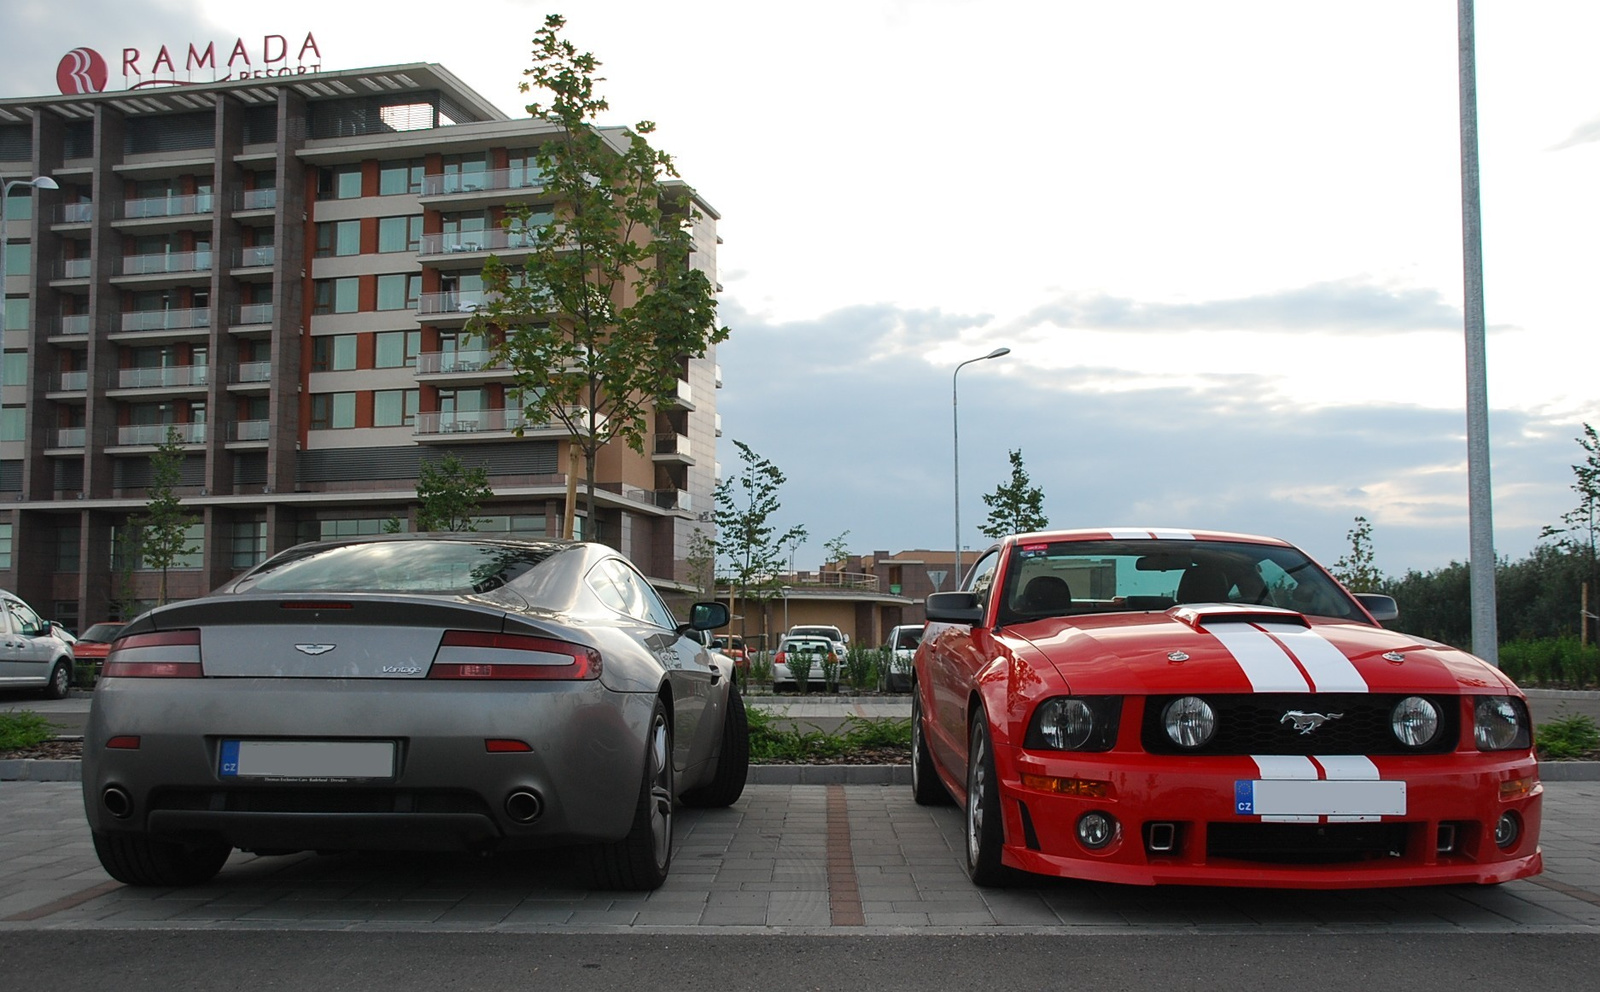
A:
<svg viewBox="0 0 1600 992">
<path fill-rule="evenodd" d="M 1467 518 L 1472 653 L 1499 666 L 1494 616 L 1494 510 L 1490 488 L 1488 358 L 1483 346 L 1483 219 L 1478 197 L 1478 93 L 1472 0 L 1456 0 L 1461 77 L 1461 254 L 1467 344 Z"/>
</svg>

